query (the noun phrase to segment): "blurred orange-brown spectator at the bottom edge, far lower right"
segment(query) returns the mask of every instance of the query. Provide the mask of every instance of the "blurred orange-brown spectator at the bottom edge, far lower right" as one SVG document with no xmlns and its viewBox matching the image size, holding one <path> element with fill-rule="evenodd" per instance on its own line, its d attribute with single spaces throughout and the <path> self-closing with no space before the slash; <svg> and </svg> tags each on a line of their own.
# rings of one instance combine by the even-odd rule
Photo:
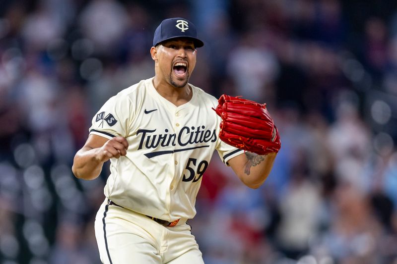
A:
<svg viewBox="0 0 397 264">
<path fill-rule="evenodd" d="M 376 263 L 379 222 L 370 214 L 369 201 L 354 185 L 343 182 L 335 191 L 331 226 L 323 246 L 337 262 Z M 319 245 L 314 245 L 314 248 Z"/>
</svg>

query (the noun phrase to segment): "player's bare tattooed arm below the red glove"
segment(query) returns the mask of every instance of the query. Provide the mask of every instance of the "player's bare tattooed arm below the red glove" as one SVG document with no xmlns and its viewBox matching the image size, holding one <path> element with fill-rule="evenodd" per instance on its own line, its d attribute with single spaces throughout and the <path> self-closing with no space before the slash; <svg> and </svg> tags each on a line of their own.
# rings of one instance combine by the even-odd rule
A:
<svg viewBox="0 0 397 264">
<path fill-rule="evenodd" d="M 258 155 L 246 151 L 234 158 L 228 163 L 240 180 L 250 188 L 259 188 L 269 175 L 273 167 L 274 159 L 277 153 Z"/>
</svg>

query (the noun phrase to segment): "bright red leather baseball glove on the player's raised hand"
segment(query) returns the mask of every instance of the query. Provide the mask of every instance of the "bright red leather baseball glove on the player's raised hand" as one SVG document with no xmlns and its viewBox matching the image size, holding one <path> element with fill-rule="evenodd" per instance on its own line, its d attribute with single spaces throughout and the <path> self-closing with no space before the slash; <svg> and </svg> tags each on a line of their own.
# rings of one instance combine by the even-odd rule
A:
<svg viewBox="0 0 397 264">
<path fill-rule="evenodd" d="M 222 95 L 215 112 L 222 118 L 219 138 L 236 148 L 266 155 L 277 153 L 280 135 L 266 104 Z"/>
</svg>

